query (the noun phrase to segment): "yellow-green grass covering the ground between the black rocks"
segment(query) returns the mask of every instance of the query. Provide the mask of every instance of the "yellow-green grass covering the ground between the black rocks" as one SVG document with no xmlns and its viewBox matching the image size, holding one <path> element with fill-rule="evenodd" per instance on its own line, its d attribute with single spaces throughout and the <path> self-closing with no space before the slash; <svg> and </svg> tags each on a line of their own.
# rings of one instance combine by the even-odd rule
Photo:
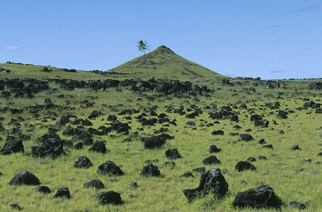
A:
<svg viewBox="0 0 322 212">
<path fill-rule="evenodd" d="M 2 66 L 2 64 L 1 64 Z M 42 67 L 42 66 L 41 66 Z M 10 69 L 10 68 L 9 68 Z M 37 67 L 38 69 L 38 67 Z M 41 69 L 41 68 L 39 68 Z M 53 68 L 52 68 L 53 69 Z M 12 70 L 12 69 L 10 69 Z M 54 70 L 54 69 L 53 69 Z M 57 71 L 57 70 L 55 70 Z M 15 70 L 14 70 L 15 72 Z M 31 70 L 32 72 L 32 70 Z M 59 71 L 57 71 L 58 73 Z M 26 72 L 27 73 L 27 72 Z M 62 72 L 64 74 L 66 72 Z M 66 73 L 72 75 L 75 73 Z M 76 73 L 77 74 L 77 73 Z M 82 72 L 80 72 L 82 74 Z M 93 74 L 93 73 L 90 73 Z M 89 75 L 90 75 L 89 74 Z M 26 74 L 27 75 L 27 74 Z M 38 75 L 38 72 L 37 74 Z M 51 76 L 43 76 L 44 78 L 51 78 Z M 39 77 L 39 76 L 38 76 Z M 75 76 L 73 76 L 75 77 Z M 84 75 L 83 78 L 87 78 L 88 75 Z M 104 78 L 104 77 L 102 77 Z M 142 77 L 143 78 L 143 77 Z M 144 78 L 147 79 L 148 77 Z M 186 80 L 187 78 L 180 78 Z M 38 113 L 41 115 L 40 119 L 34 119 L 31 114 L 28 114 L 26 110 L 22 114 L 11 115 L 10 113 L 2 113 L 0 117 L 4 117 L 2 121 L 5 129 L 12 128 L 14 126 L 8 124 L 11 118 L 17 119 L 18 116 L 24 117 L 24 122 L 35 125 L 33 132 L 28 132 L 24 126 L 21 130 L 24 134 L 31 136 L 30 141 L 24 141 L 24 153 L 14 153 L 11 155 L 0 155 L 0 172 L 4 175 L 0 176 L 0 211 L 9 211 L 9 202 L 17 203 L 23 208 L 23 211 L 172 211 L 175 208 L 179 208 L 179 211 L 274 211 L 272 209 L 250 209 L 243 210 L 234 209 L 232 207 L 232 201 L 238 192 L 245 191 L 251 188 L 257 188 L 262 184 L 269 185 L 275 191 L 275 194 L 282 199 L 283 202 L 289 203 L 291 201 L 298 201 L 305 203 L 308 206 L 306 211 L 320 211 L 322 208 L 322 165 L 314 164 L 317 161 L 322 161 L 321 157 L 317 157 L 317 154 L 321 152 L 322 144 L 322 130 L 316 130 L 322 126 L 322 115 L 315 114 L 313 109 L 298 111 L 297 107 L 303 106 L 305 101 L 299 98 L 310 98 L 316 103 L 319 103 L 317 99 L 321 99 L 322 94 L 320 91 L 308 91 L 308 81 L 300 83 L 293 81 L 285 81 L 290 90 L 279 89 L 266 89 L 263 87 L 255 87 L 256 93 L 247 94 L 242 91 L 242 88 L 249 88 L 249 85 L 235 85 L 233 87 L 225 87 L 215 81 L 209 81 L 206 78 L 192 78 L 189 79 L 193 84 L 207 85 L 209 88 L 221 88 L 214 92 L 212 97 L 206 98 L 205 96 L 198 96 L 201 102 L 193 102 L 191 99 L 177 99 L 173 97 L 172 100 L 165 100 L 164 102 L 150 102 L 151 106 L 156 104 L 158 106 L 156 113 L 160 114 L 165 112 L 165 106 L 172 104 L 174 108 L 178 108 L 183 104 L 184 100 L 188 100 L 190 104 L 194 103 L 198 107 L 203 108 L 210 103 L 215 103 L 218 109 L 222 106 L 226 106 L 229 103 L 234 103 L 237 106 L 240 103 L 238 101 L 245 102 L 248 108 L 254 108 L 255 113 L 265 116 L 264 119 L 270 121 L 268 128 L 254 127 L 254 124 L 250 121 L 251 114 L 247 110 L 234 109 L 234 111 L 240 111 L 239 123 L 234 123 L 229 120 L 219 120 L 220 124 L 215 124 L 212 127 L 198 127 L 199 124 L 204 123 L 200 119 L 204 119 L 208 123 L 213 123 L 215 120 L 209 118 L 207 112 L 203 110 L 203 114 L 195 119 L 187 119 L 185 116 L 179 114 L 167 113 L 169 119 L 176 119 L 177 126 L 170 125 L 169 135 L 174 136 L 175 139 L 167 140 L 166 145 L 161 149 L 145 149 L 143 143 L 139 140 L 133 140 L 129 143 L 123 143 L 122 140 L 125 136 L 111 139 L 109 136 L 94 136 L 95 140 L 106 140 L 106 147 L 110 150 L 107 154 L 99 154 L 89 152 L 90 146 L 84 146 L 81 150 L 68 149 L 67 155 L 58 157 L 57 159 L 47 158 L 33 158 L 25 155 L 25 153 L 31 152 L 31 146 L 39 145 L 35 142 L 37 137 L 42 136 L 48 131 L 46 127 L 40 128 L 42 125 L 54 125 L 56 121 L 42 123 L 41 120 L 46 115 L 47 110 L 40 110 Z M 196 81 L 199 80 L 197 83 Z M 55 83 L 49 84 L 51 88 L 58 88 Z M 295 88 L 302 94 L 292 96 L 295 93 Z M 233 91 L 233 90 L 236 91 Z M 35 98 L 32 100 L 24 98 L 16 99 L 0 99 L 0 107 L 12 107 L 23 109 L 28 105 L 44 104 L 45 98 L 51 98 L 52 102 L 57 105 L 65 105 L 65 101 L 70 102 L 77 100 L 85 100 L 86 96 L 98 96 L 99 99 L 89 100 L 94 101 L 93 108 L 80 108 L 79 103 L 73 104 L 75 109 L 68 111 L 57 111 L 59 117 L 66 112 L 75 114 L 78 118 L 85 119 L 93 110 L 100 110 L 104 115 L 96 119 L 90 120 L 93 123 L 92 128 L 98 128 L 99 126 L 108 126 L 106 118 L 109 114 L 115 114 L 106 107 L 101 107 L 100 104 L 116 105 L 119 103 L 124 106 L 118 106 L 117 109 L 139 109 L 140 106 L 147 107 L 148 102 L 144 99 L 137 105 L 137 98 L 141 98 L 139 94 L 133 94 L 132 91 L 123 89 L 122 92 L 115 92 L 115 89 L 108 89 L 105 92 L 93 92 L 87 89 L 75 89 L 74 91 L 64 91 L 59 89 L 66 97 L 63 99 L 56 99 L 54 95 L 58 94 L 46 94 L 47 91 L 35 94 Z M 285 92 L 281 95 L 284 99 L 277 99 L 277 92 Z M 232 94 L 238 93 L 238 96 L 232 96 Z M 257 95 L 261 93 L 261 95 Z M 316 94 L 316 97 L 312 96 L 312 93 Z M 152 92 L 147 93 L 153 94 Z M 72 95 L 72 97 L 67 97 Z M 80 96 L 78 96 L 80 95 Z M 267 95 L 269 97 L 264 97 Z M 288 98 L 289 97 L 289 98 Z M 160 97 L 159 99 L 163 99 Z M 133 102 L 127 102 L 131 99 Z M 295 113 L 288 114 L 288 119 L 279 119 L 276 117 L 277 110 L 260 110 L 265 109 L 266 102 L 279 101 L 281 110 L 289 108 L 294 110 Z M 15 104 L 7 105 L 7 102 L 14 102 Z M 253 104 L 256 104 L 254 106 Z M 183 104 L 185 109 L 190 104 Z M 71 105 L 70 105 L 71 106 Z M 306 114 L 311 111 L 311 114 Z M 273 111 L 274 114 L 269 113 Z M 140 113 L 143 112 L 141 109 Z M 138 114 L 132 114 L 132 123 L 129 125 L 132 127 L 130 132 L 137 131 L 138 127 L 142 125 L 134 119 Z M 187 112 L 190 113 L 190 112 Z M 125 115 L 128 116 L 128 115 Z M 122 119 L 125 116 L 119 116 L 118 120 L 121 122 L 127 122 L 128 120 Z M 246 117 L 248 116 L 248 117 Z M 57 120 L 59 119 L 57 118 Z M 105 120 L 101 120 L 104 118 Z M 71 118 L 71 120 L 74 120 Z M 192 130 L 191 127 L 185 128 L 185 123 L 189 120 L 193 120 L 196 123 L 197 130 Z M 273 125 L 272 120 L 276 120 L 279 125 Z M 20 122 L 22 125 L 24 122 Z M 42 124 L 42 125 L 37 125 Z M 164 123 L 166 124 L 166 123 Z M 240 130 L 233 128 L 238 124 L 242 127 Z M 66 126 L 67 127 L 67 126 Z M 65 127 L 65 128 L 66 128 Z M 76 125 L 72 125 L 76 127 Z M 144 127 L 145 133 L 153 134 L 154 130 L 160 129 L 161 124 L 151 126 L 150 128 Z M 87 127 L 88 128 L 88 127 Z M 201 128 L 206 128 L 206 131 L 200 131 Z M 245 129 L 251 128 L 252 131 L 249 134 L 254 138 L 253 141 L 244 142 L 239 141 L 240 137 L 229 136 L 230 132 L 244 133 Z M 270 130 L 274 128 L 274 130 Z M 63 128 L 64 129 L 64 128 Z M 223 136 L 213 136 L 211 132 L 213 130 L 222 129 L 224 131 Z M 278 134 L 276 129 L 282 129 L 285 134 Z M 182 134 L 187 133 L 187 134 Z M 70 139 L 71 136 L 62 136 L 62 131 L 58 132 L 62 139 Z M 117 135 L 116 132 L 111 132 L 112 135 Z M 110 135 L 109 134 L 109 135 Z M 142 132 L 139 132 L 142 135 Z M 0 132 L 0 137 L 3 140 L 0 141 L 0 146 L 3 147 L 6 140 L 6 132 Z M 144 135 L 142 135 L 144 136 Z M 265 138 L 267 144 L 272 144 L 273 149 L 262 148 L 262 145 L 258 144 L 261 138 Z M 219 139 L 219 140 L 215 140 Z M 236 141 L 236 144 L 233 142 Z M 210 154 L 208 148 L 211 145 L 216 145 L 221 148 L 222 151 L 215 154 Z M 290 148 L 294 145 L 298 145 L 301 150 L 291 151 Z M 170 166 L 163 166 L 163 163 L 170 161 L 165 156 L 165 151 L 169 148 L 177 148 L 182 155 L 181 159 L 176 159 L 175 168 L 171 170 Z M 276 154 L 276 156 L 273 156 Z M 89 169 L 77 169 L 73 167 L 75 161 L 80 156 L 87 156 L 93 163 L 93 166 Z M 216 155 L 221 160 L 221 164 L 204 166 L 202 161 L 204 158 L 210 155 Z M 267 157 L 267 160 L 258 160 L 258 156 L 263 155 Z M 238 161 L 246 161 L 250 156 L 256 158 L 256 162 L 252 164 L 256 167 L 257 171 L 244 171 L 237 172 L 234 166 Z M 312 163 L 305 163 L 304 159 L 312 159 Z M 158 159 L 157 165 L 162 174 L 162 177 L 145 178 L 140 176 L 140 172 L 145 160 Z M 98 166 L 106 161 L 113 161 L 117 165 L 121 165 L 122 171 L 125 172 L 124 176 L 112 176 L 97 174 Z M 279 165 L 278 165 L 279 164 Z M 194 178 L 180 178 L 179 175 L 187 171 L 192 171 L 196 167 L 205 167 L 206 171 L 211 168 L 220 168 L 221 170 L 227 169 L 228 172 L 223 173 L 226 181 L 229 184 L 229 194 L 223 199 L 214 199 L 213 196 L 208 195 L 204 198 L 196 199 L 192 203 L 188 203 L 183 194 L 183 190 L 187 188 L 196 188 L 199 185 L 200 173 L 193 172 Z M 298 168 L 303 168 L 301 172 L 297 172 Z M 33 191 L 36 186 L 10 186 L 8 183 L 18 172 L 27 170 L 36 175 L 41 185 L 48 186 L 51 190 L 51 194 L 41 194 Z M 104 189 L 83 189 L 83 183 L 99 179 L 105 185 Z M 242 184 L 244 180 L 247 183 Z M 130 187 L 131 182 L 137 182 L 139 188 L 133 189 Z M 58 188 L 68 187 L 71 192 L 71 199 L 55 199 L 52 196 L 55 194 Z M 123 205 L 99 205 L 95 199 L 96 195 L 102 191 L 114 190 L 121 194 Z M 133 195 L 130 198 L 129 195 Z M 174 208 L 175 207 L 175 208 Z M 282 211 L 293 211 L 292 208 L 283 208 Z"/>
</svg>

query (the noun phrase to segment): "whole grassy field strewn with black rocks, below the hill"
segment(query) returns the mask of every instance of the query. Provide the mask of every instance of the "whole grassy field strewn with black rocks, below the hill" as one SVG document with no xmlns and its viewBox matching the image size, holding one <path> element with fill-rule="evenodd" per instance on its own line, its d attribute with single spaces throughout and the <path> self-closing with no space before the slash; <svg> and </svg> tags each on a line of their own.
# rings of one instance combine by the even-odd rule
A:
<svg viewBox="0 0 322 212">
<path fill-rule="evenodd" d="M 0 73 L 0 211 L 322 210 L 321 80 L 66 70 Z"/>
</svg>

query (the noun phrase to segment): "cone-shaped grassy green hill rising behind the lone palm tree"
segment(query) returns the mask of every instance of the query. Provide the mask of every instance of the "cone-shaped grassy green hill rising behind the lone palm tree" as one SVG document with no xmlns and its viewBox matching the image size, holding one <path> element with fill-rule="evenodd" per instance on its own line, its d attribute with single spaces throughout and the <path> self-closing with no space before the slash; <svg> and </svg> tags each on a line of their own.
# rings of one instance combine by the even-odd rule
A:
<svg viewBox="0 0 322 212">
<path fill-rule="evenodd" d="M 204 66 L 191 62 L 162 45 L 146 53 L 149 75 L 192 75 L 203 77 L 224 77 Z M 147 74 L 144 55 L 134 58 L 120 66 L 107 70 L 118 73 Z"/>
</svg>

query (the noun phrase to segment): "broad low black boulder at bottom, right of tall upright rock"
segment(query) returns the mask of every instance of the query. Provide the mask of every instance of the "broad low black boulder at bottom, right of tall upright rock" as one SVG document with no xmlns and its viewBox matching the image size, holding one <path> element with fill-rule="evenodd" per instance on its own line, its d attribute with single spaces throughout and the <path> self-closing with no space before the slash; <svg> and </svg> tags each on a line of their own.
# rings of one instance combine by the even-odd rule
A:
<svg viewBox="0 0 322 212">
<path fill-rule="evenodd" d="M 279 208 L 281 203 L 271 187 L 262 185 L 257 189 L 239 192 L 232 205 L 234 208 Z"/>
</svg>

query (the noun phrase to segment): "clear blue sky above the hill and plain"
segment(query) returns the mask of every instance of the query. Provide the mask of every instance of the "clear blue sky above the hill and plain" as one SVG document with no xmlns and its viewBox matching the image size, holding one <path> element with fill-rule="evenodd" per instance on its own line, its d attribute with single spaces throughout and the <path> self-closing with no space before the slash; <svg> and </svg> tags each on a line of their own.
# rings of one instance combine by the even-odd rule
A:
<svg viewBox="0 0 322 212">
<path fill-rule="evenodd" d="M 230 77 L 322 77 L 321 0 L 5 0 L 1 16 L 0 63 L 105 71 L 147 40 Z"/>
</svg>

